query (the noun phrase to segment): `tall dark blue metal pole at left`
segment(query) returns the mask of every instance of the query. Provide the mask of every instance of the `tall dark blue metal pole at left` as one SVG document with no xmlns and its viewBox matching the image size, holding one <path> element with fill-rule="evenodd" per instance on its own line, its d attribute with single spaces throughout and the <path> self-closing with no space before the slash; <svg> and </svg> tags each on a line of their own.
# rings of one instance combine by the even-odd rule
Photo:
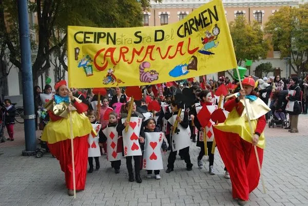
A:
<svg viewBox="0 0 308 206">
<path fill-rule="evenodd" d="M 35 115 L 34 115 L 34 97 L 33 80 L 31 65 L 31 47 L 30 30 L 28 19 L 28 1 L 18 0 L 18 22 L 20 28 L 21 42 L 21 62 L 23 77 L 23 100 L 24 100 L 24 119 L 25 119 L 25 142 L 26 149 L 23 155 L 35 155 L 36 134 L 35 134 Z"/>
</svg>

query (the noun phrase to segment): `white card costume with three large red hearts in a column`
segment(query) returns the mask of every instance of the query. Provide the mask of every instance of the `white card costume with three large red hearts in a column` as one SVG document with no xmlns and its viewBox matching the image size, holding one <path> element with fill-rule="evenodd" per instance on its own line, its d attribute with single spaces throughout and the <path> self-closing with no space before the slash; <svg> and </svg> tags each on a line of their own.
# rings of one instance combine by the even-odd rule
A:
<svg viewBox="0 0 308 206">
<path fill-rule="evenodd" d="M 126 118 L 122 119 L 124 123 Z M 131 117 L 129 122 L 128 131 L 123 132 L 123 146 L 124 146 L 124 156 L 141 156 L 141 148 L 139 144 L 139 135 L 142 125 L 142 118 Z"/>
</svg>

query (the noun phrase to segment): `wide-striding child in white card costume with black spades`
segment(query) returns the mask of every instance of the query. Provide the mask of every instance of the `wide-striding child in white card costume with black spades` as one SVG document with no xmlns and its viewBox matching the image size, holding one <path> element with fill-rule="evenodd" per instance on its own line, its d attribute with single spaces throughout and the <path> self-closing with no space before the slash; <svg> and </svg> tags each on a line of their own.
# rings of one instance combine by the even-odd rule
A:
<svg viewBox="0 0 308 206">
<path fill-rule="evenodd" d="M 168 124 L 170 124 L 170 144 L 171 144 L 171 152 L 168 157 L 168 165 L 166 173 L 170 173 L 174 171 L 174 163 L 177 156 L 177 151 L 181 150 L 182 156 L 186 163 L 187 171 L 192 170 L 192 164 L 190 162 L 189 156 L 189 144 L 190 144 L 190 129 L 188 127 L 188 114 L 186 112 L 182 113 L 180 117 L 178 116 L 178 111 L 180 109 L 180 102 L 171 102 L 171 117 L 168 120 Z M 172 134 L 174 122 L 178 121 L 178 126 L 176 128 L 176 132 Z"/>
</svg>

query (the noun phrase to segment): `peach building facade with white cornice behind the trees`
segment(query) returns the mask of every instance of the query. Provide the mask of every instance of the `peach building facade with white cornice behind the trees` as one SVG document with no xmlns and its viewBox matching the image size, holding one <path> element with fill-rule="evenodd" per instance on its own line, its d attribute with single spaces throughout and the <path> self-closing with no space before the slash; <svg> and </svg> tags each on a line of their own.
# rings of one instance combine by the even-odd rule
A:
<svg viewBox="0 0 308 206">
<path fill-rule="evenodd" d="M 163 0 L 162 3 L 151 1 L 151 10 L 144 12 L 144 26 L 160 26 L 172 24 L 185 18 L 195 8 L 208 3 L 209 0 Z M 227 22 L 232 22 L 239 15 L 246 18 L 248 23 L 257 21 L 261 28 L 264 27 L 268 17 L 273 15 L 281 6 L 296 7 L 299 4 L 307 3 L 307 0 L 222 0 Z M 307 54 L 306 54 L 307 55 Z M 255 68 L 261 64 L 271 62 L 275 68 L 274 72 L 268 76 L 280 74 L 287 78 L 294 74 L 294 71 L 286 63 L 288 60 L 280 60 L 280 52 L 271 50 L 267 54 L 267 59 L 255 61 L 250 68 L 251 74 L 255 73 Z M 248 74 L 248 72 L 247 72 Z M 219 72 L 208 75 L 207 79 L 217 80 L 220 76 L 228 76 L 227 72 Z"/>
</svg>

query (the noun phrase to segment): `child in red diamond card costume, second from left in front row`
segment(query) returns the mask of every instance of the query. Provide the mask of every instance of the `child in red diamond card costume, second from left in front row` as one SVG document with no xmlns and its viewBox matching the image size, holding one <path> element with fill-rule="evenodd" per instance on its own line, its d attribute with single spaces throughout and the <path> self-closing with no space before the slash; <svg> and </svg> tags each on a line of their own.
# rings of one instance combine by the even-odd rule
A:
<svg viewBox="0 0 308 206">
<path fill-rule="evenodd" d="M 111 111 L 108 117 L 109 123 L 103 128 L 103 134 L 100 136 L 100 144 L 107 140 L 107 158 L 111 162 L 111 167 L 114 168 L 114 173 L 118 174 L 120 173 L 123 140 L 117 132 L 117 113 Z"/>
</svg>

